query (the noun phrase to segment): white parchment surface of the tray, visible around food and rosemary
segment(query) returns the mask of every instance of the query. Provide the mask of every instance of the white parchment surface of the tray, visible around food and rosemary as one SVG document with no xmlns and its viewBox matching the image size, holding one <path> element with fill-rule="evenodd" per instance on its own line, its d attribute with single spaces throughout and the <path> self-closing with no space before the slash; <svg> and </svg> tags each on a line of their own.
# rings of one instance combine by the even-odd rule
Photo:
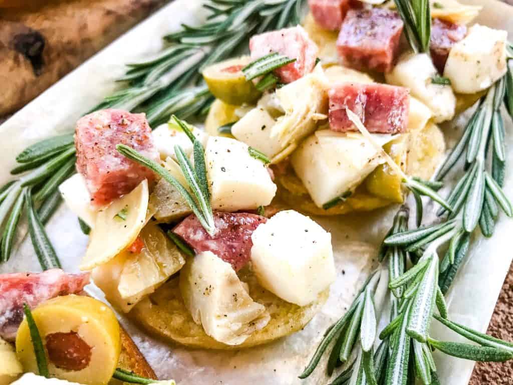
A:
<svg viewBox="0 0 513 385">
<path fill-rule="evenodd" d="M 513 8 L 494 0 L 466 1 L 484 6 L 478 22 L 508 30 L 513 36 Z M 70 73 L 40 97 L 0 126 L 0 183 L 9 179 L 14 158 L 28 144 L 60 132 L 69 132 L 74 122 L 115 88 L 113 82 L 124 72 L 124 63 L 159 51 L 161 36 L 176 30 L 181 23 L 197 23 L 204 17 L 199 1 L 177 0 L 154 14 L 144 23 L 116 40 L 88 62 Z M 456 127 L 447 125 L 448 144 L 459 137 L 465 120 Z M 505 119 L 509 146 L 507 162 L 513 165 L 513 127 Z M 506 194 L 513 197 L 513 174 L 506 177 Z M 264 347 L 230 352 L 191 351 L 169 346 L 146 336 L 123 320 L 137 345 L 162 378 L 174 378 L 180 384 L 300 384 L 321 383 L 324 370 L 319 368 L 305 381 L 297 378 L 329 324 L 339 318 L 353 299 L 354 293 L 371 271 L 379 242 L 391 224 L 395 207 L 372 214 L 354 214 L 340 218 L 319 219 L 332 232 L 337 263 L 337 281 L 323 310 L 306 328 Z M 433 211 L 429 206 L 427 211 Z M 87 244 L 76 217 L 62 206 L 47 226 L 64 268 L 77 270 Z M 448 293 L 450 318 L 485 331 L 494 309 L 502 282 L 511 262 L 513 222 L 504 215 L 491 240 L 477 232 L 471 252 Z M 19 245 L 11 260 L 0 266 L 0 273 L 40 271 L 30 241 Z M 433 321 L 432 335 L 456 339 Z M 444 384 L 466 384 L 473 362 L 436 356 L 437 368 Z M 321 364 L 321 367 L 324 365 Z"/>
</svg>

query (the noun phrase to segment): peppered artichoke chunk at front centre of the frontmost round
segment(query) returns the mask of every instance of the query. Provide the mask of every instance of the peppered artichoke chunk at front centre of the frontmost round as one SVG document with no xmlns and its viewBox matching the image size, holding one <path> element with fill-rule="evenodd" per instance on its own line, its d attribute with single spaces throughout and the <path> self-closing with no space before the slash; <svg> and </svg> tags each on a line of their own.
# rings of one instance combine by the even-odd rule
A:
<svg viewBox="0 0 513 385">
<path fill-rule="evenodd" d="M 228 345 L 243 343 L 270 316 L 254 302 L 231 265 L 212 252 L 190 258 L 180 273 L 180 292 L 192 319 Z"/>
</svg>

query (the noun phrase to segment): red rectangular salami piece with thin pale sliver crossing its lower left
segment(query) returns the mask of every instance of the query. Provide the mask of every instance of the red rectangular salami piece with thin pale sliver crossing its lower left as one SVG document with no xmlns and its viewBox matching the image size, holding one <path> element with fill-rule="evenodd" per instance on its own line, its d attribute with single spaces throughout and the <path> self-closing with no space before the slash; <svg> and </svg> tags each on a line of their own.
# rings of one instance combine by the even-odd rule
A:
<svg viewBox="0 0 513 385">
<path fill-rule="evenodd" d="M 358 115 L 369 132 L 400 133 L 407 129 L 409 96 L 404 87 L 342 83 L 332 87 L 328 97 L 329 125 L 333 131 L 358 131 L 349 120 L 346 107 Z"/>
</svg>

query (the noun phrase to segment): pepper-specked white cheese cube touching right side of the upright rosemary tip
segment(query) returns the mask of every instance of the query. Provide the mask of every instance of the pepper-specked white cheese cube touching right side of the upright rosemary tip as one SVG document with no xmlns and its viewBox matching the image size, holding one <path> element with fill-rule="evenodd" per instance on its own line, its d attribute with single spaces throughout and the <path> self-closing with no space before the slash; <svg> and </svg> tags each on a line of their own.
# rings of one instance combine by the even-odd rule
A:
<svg viewBox="0 0 513 385">
<path fill-rule="evenodd" d="M 238 211 L 267 206 L 276 194 L 267 167 L 249 155 L 245 143 L 210 137 L 205 162 L 213 209 Z"/>
</svg>

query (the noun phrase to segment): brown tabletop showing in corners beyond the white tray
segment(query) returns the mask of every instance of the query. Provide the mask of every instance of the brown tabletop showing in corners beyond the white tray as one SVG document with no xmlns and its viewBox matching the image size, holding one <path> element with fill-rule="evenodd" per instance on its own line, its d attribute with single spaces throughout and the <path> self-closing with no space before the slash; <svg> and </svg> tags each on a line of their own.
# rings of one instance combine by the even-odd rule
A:
<svg viewBox="0 0 513 385">
<path fill-rule="evenodd" d="M 0 121 L 168 1 L 55 0 L 0 9 Z M 513 264 L 487 333 L 513 341 Z M 513 361 L 478 362 L 469 384 L 513 385 Z"/>
</svg>

